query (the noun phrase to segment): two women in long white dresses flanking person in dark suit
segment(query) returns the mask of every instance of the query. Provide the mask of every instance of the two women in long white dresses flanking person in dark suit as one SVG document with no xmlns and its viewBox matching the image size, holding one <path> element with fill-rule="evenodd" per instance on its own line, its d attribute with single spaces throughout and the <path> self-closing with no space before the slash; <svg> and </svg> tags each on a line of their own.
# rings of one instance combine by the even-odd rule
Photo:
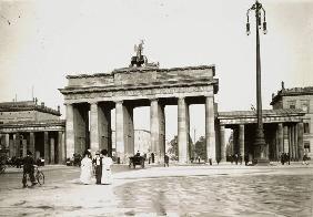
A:
<svg viewBox="0 0 313 217">
<path fill-rule="evenodd" d="M 112 164 L 113 161 L 108 156 L 107 149 L 97 151 L 94 158 L 92 158 L 90 151 L 85 151 L 81 159 L 80 182 L 84 185 L 92 184 L 94 173 L 97 185 L 112 184 Z"/>
</svg>

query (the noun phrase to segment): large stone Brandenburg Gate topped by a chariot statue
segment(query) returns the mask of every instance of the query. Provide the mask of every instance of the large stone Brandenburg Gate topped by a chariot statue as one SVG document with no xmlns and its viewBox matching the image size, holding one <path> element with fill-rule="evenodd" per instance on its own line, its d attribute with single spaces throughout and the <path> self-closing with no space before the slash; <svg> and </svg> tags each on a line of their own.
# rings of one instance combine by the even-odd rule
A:
<svg viewBox="0 0 313 217">
<path fill-rule="evenodd" d="M 60 89 L 67 106 L 67 157 L 102 148 L 112 154 L 111 110 L 115 108 L 115 155 L 121 163 L 134 154 L 133 108 L 150 106 L 151 152 L 159 162 L 165 153 L 166 105 L 178 105 L 179 162 L 190 159 L 189 105 L 205 105 L 206 156 L 216 161 L 214 94 L 219 80 L 214 65 L 160 69 L 141 53 L 129 68 L 111 73 L 68 75 Z M 145 63 L 145 64 L 144 64 Z M 143 64 L 143 65 L 142 65 Z"/>
</svg>

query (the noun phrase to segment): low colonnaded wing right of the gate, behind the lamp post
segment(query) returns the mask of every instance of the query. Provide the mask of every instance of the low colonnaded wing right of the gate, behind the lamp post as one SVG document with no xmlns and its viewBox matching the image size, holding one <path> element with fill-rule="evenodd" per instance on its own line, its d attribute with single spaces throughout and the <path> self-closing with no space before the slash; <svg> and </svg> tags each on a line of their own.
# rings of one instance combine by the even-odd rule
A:
<svg viewBox="0 0 313 217">
<path fill-rule="evenodd" d="M 280 161 L 282 153 L 287 153 L 291 161 L 300 161 L 304 153 L 304 115 L 302 110 L 263 110 L 263 128 L 266 143 L 266 157 Z M 255 111 L 219 112 L 218 125 L 220 132 L 221 161 L 226 159 L 226 153 L 248 156 L 254 159 L 254 136 L 256 131 Z M 225 147 L 225 128 L 232 130 L 232 147 Z"/>
</svg>

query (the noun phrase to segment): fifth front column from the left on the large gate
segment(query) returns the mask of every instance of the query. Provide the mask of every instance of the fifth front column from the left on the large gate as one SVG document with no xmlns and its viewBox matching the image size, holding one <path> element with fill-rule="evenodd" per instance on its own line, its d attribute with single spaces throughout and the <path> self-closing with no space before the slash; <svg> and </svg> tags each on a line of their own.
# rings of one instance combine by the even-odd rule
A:
<svg viewBox="0 0 313 217">
<path fill-rule="evenodd" d="M 186 130 L 186 103 L 185 99 L 179 99 L 178 104 L 178 145 L 179 163 L 188 163 L 188 130 Z"/>
</svg>

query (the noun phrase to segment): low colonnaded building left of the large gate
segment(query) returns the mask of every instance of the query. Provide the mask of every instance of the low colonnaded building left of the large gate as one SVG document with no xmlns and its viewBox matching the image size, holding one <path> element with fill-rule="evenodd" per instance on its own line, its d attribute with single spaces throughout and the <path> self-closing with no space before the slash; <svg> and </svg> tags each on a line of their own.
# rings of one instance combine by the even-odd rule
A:
<svg viewBox="0 0 313 217">
<path fill-rule="evenodd" d="M 27 149 L 46 164 L 64 162 L 65 121 L 60 107 L 52 110 L 36 101 L 0 103 L 0 147 L 9 157 L 23 157 Z"/>
</svg>

